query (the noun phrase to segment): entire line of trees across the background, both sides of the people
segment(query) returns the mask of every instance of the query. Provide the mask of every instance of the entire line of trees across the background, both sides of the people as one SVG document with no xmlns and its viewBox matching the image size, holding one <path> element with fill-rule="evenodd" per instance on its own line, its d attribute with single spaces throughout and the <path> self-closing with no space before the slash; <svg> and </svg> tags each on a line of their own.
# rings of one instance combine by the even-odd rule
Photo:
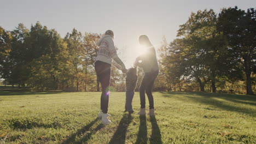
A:
<svg viewBox="0 0 256 144">
<path fill-rule="evenodd" d="M 255 10 L 225 8 L 191 13 L 177 39 L 159 48 L 160 73 L 154 91 L 255 91 Z M 0 27 L 0 78 L 33 91 L 75 87 L 99 91 L 94 70 L 97 33 L 73 29 L 64 38 L 39 22 L 13 31 Z M 142 70 L 138 70 L 139 81 Z M 113 91 L 125 91 L 125 75 L 112 68 Z M 138 85 L 137 88 L 138 89 Z"/>
</svg>

